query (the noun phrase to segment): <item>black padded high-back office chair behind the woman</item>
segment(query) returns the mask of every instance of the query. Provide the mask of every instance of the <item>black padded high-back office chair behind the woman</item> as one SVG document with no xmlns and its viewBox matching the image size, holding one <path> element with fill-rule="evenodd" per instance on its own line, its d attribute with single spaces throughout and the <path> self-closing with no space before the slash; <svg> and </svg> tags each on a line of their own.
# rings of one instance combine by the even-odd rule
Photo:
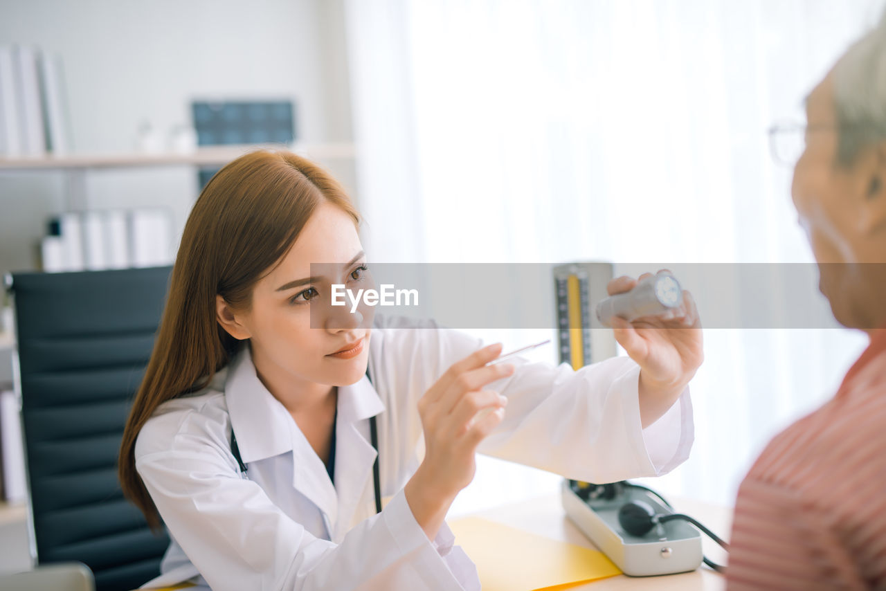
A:
<svg viewBox="0 0 886 591">
<path fill-rule="evenodd" d="M 123 425 L 151 356 L 170 268 L 7 276 L 30 491 L 32 555 L 80 561 L 97 591 L 159 574 L 169 540 L 124 499 Z"/>
</svg>

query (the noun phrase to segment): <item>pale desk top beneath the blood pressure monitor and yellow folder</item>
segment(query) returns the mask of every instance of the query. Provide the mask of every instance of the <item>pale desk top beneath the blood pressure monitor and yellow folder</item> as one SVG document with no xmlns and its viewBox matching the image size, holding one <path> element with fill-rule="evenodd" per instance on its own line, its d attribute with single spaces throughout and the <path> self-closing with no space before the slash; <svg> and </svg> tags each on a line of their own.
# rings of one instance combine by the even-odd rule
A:
<svg viewBox="0 0 886 591">
<path fill-rule="evenodd" d="M 732 509 L 718 507 L 688 499 L 668 499 L 675 510 L 695 517 L 713 533 L 724 540 L 732 529 Z M 469 516 L 463 516 L 469 517 Z M 595 548 L 591 540 L 572 524 L 563 512 L 560 497 L 556 494 L 543 496 L 532 501 L 504 505 L 486 509 L 473 515 L 490 521 L 510 525 L 526 532 L 542 535 L 554 540 Z M 454 518 L 454 520 L 457 517 Z M 726 553 L 713 540 L 702 535 L 704 556 L 718 564 L 726 564 Z M 455 543 L 458 543 L 457 540 Z M 720 591 L 726 588 L 726 581 L 718 572 L 711 571 L 704 564 L 694 572 L 663 575 L 660 577 L 627 577 L 618 575 L 609 579 L 599 579 L 586 585 L 570 587 L 576 591 L 610 591 L 611 589 L 657 589 L 658 591 Z"/>
</svg>

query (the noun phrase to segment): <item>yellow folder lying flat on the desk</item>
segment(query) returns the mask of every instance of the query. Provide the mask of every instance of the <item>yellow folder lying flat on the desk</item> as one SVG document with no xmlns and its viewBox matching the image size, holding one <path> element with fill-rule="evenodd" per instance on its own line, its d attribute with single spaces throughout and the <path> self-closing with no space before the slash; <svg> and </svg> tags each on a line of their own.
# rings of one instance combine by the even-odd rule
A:
<svg viewBox="0 0 886 591">
<path fill-rule="evenodd" d="M 621 574 L 602 552 L 480 517 L 455 519 L 449 527 L 477 564 L 483 591 L 554 591 Z"/>
</svg>

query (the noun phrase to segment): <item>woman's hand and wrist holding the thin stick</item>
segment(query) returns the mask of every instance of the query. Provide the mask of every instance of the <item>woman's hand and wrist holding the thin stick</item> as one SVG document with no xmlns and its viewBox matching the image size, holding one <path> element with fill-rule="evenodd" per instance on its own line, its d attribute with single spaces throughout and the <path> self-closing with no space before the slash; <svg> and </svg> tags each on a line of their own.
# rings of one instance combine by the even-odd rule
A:
<svg viewBox="0 0 886 591">
<path fill-rule="evenodd" d="M 418 400 L 424 461 L 404 492 L 409 509 L 430 540 L 437 537 L 455 495 L 474 478 L 480 441 L 504 418 L 508 399 L 483 389 L 514 373 L 511 363 L 486 365 L 499 354 L 501 343 L 496 343 L 455 362 Z M 480 412 L 485 410 L 490 412 Z"/>
</svg>

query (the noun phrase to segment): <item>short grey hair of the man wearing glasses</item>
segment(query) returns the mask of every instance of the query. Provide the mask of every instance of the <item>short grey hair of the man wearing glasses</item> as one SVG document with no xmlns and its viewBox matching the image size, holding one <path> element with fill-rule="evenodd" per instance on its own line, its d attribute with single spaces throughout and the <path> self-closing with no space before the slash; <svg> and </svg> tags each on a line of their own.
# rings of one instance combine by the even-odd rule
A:
<svg viewBox="0 0 886 591">
<path fill-rule="evenodd" d="M 849 166 L 862 148 L 886 140 L 886 12 L 834 66 L 836 161 Z"/>
</svg>

